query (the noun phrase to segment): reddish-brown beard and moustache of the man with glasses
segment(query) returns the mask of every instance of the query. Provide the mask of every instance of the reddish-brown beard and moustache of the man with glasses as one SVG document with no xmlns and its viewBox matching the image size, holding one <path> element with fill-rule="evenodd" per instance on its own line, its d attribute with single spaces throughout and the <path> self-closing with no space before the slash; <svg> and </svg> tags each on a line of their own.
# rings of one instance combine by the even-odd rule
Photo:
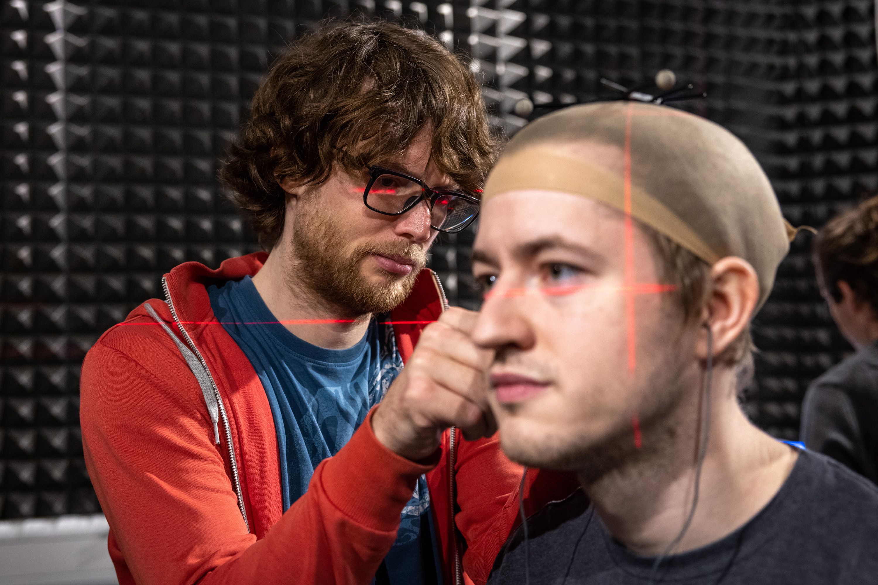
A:
<svg viewBox="0 0 878 585">
<path fill-rule="evenodd" d="M 427 263 L 427 246 L 385 242 L 356 246 L 345 253 L 343 234 L 342 225 L 326 216 L 296 221 L 292 232 L 295 277 L 349 317 L 385 313 L 406 300 Z M 407 275 L 385 273 L 379 282 L 371 282 L 362 274 L 363 260 L 371 254 L 404 258 L 412 271 Z"/>
</svg>

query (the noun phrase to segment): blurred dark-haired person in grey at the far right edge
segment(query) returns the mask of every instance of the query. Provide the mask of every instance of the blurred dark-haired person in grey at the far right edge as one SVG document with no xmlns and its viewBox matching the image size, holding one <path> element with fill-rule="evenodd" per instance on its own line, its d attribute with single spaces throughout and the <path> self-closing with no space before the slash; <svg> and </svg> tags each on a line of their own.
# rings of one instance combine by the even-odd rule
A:
<svg viewBox="0 0 878 585">
<path fill-rule="evenodd" d="M 817 282 L 856 350 L 811 383 L 802 442 L 878 483 L 878 196 L 817 233 Z"/>
</svg>

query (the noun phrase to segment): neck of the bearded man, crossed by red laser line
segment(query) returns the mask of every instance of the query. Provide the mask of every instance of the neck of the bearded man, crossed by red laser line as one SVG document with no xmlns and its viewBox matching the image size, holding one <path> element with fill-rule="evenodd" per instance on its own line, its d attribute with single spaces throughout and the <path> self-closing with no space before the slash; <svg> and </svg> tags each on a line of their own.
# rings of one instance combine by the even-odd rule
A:
<svg viewBox="0 0 878 585">
<path fill-rule="evenodd" d="M 301 279 L 290 275 L 283 246 L 271 251 L 253 284 L 271 313 L 293 335 L 314 346 L 345 349 L 363 339 L 371 314 L 350 315 L 324 302 Z"/>
</svg>

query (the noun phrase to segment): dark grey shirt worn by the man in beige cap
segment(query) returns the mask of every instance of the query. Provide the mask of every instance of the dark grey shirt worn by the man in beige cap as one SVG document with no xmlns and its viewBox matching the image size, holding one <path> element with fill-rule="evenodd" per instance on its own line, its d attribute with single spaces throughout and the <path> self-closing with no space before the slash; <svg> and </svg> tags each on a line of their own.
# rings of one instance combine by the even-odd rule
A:
<svg viewBox="0 0 878 585">
<path fill-rule="evenodd" d="M 528 519 L 494 562 L 488 585 L 874 585 L 878 486 L 802 451 L 778 493 L 746 524 L 673 554 L 651 581 L 655 557 L 610 534 L 581 489 Z"/>
</svg>

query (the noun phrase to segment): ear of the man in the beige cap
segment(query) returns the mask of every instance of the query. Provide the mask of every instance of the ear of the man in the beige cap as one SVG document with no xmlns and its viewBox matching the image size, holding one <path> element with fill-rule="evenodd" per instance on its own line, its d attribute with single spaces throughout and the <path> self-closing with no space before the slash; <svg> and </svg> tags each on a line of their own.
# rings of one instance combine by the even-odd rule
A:
<svg viewBox="0 0 878 585">
<path fill-rule="evenodd" d="M 702 324 L 713 333 L 714 357 L 744 332 L 758 302 L 759 276 L 749 262 L 729 256 L 710 268 L 710 289 Z M 699 340 L 695 352 L 702 360 L 707 359 L 706 335 Z"/>
</svg>

